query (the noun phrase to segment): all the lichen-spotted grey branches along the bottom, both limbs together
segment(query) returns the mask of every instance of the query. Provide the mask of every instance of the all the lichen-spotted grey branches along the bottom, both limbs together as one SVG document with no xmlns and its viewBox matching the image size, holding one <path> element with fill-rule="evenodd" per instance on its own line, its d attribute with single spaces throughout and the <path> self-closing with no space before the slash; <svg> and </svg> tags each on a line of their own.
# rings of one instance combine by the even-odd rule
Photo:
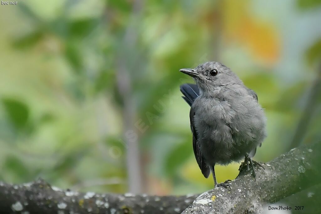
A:
<svg viewBox="0 0 321 214">
<path fill-rule="evenodd" d="M 183 214 L 260 213 L 266 203 L 320 183 L 320 152 L 320 143 L 292 149 L 264 164 L 265 170 L 256 167 L 256 181 L 241 171 L 230 184 L 232 191 L 215 188 L 199 197 L 80 193 L 41 179 L 22 185 L 0 182 L 0 213 L 180 213 L 194 200 Z"/>
</svg>

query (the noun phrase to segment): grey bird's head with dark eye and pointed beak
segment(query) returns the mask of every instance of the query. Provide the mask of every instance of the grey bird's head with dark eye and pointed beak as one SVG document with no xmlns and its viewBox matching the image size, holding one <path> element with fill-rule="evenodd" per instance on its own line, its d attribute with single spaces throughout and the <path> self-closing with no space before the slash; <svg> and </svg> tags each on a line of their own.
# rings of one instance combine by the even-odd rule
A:
<svg viewBox="0 0 321 214">
<path fill-rule="evenodd" d="M 205 62 L 194 69 L 183 68 L 179 71 L 193 77 L 203 92 L 213 91 L 219 86 L 242 84 L 242 81 L 230 68 L 219 62 Z"/>
</svg>

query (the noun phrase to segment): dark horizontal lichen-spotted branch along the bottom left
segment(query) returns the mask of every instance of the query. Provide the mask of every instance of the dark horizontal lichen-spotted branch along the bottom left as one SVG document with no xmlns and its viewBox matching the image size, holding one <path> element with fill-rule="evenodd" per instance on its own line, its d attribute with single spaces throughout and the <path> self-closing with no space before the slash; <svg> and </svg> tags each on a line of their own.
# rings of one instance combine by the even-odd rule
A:
<svg viewBox="0 0 321 214">
<path fill-rule="evenodd" d="M 196 195 L 148 196 L 63 191 L 39 179 L 11 185 L 0 182 L 0 213 L 181 213 Z M 60 211 L 60 212 L 59 212 Z"/>
</svg>

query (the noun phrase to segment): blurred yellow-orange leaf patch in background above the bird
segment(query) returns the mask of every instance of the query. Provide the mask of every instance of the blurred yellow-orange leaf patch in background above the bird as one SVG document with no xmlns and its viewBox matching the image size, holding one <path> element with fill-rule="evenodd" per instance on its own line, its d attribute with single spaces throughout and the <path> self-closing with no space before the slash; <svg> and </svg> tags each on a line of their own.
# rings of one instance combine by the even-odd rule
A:
<svg viewBox="0 0 321 214">
<path fill-rule="evenodd" d="M 248 1 L 224 1 L 223 27 L 225 42 L 238 42 L 250 50 L 254 58 L 273 64 L 279 58 L 280 41 L 272 23 L 252 17 Z"/>
</svg>

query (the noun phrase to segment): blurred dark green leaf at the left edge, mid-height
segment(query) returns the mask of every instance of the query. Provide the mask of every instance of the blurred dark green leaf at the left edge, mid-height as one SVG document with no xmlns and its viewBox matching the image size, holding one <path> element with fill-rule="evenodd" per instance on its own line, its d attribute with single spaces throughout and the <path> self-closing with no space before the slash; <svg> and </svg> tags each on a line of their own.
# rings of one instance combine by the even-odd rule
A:
<svg viewBox="0 0 321 214">
<path fill-rule="evenodd" d="M 28 106 L 25 103 L 12 98 L 3 98 L 2 103 L 9 120 L 15 126 L 15 128 L 24 128 L 29 118 Z"/>
</svg>

